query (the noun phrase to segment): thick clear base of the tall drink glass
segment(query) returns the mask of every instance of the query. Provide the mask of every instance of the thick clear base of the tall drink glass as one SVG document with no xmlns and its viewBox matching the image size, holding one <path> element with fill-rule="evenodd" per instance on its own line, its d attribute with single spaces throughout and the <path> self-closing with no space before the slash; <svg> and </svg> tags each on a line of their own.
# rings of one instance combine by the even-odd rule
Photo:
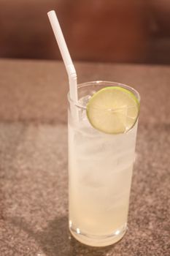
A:
<svg viewBox="0 0 170 256">
<path fill-rule="evenodd" d="M 77 241 L 80 241 L 82 244 L 100 247 L 109 246 L 111 244 L 115 244 L 117 241 L 120 241 L 120 239 L 125 235 L 127 224 L 113 231 L 107 236 L 88 235 L 87 233 L 82 233 L 80 229 L 74 229 L 73 227 L 69 227 L 69 230 L 72 233 L 72 236 L 74 236 L 74 238 L 76 238 Z"/>
</svg>

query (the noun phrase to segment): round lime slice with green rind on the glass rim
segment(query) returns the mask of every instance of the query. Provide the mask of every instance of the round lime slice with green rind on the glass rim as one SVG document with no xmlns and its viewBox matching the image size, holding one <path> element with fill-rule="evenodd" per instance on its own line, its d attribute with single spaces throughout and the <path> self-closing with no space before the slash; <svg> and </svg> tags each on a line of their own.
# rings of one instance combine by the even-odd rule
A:
<svg viewBox="0 0 170 256">
<path fill-rule="evenodd" d="M 139 100 L 123 87 L 109 86 L 93 94 L 86 111 L 90 124 L 99 131 L 124 133 L 136 123 Z"/>
</svg>

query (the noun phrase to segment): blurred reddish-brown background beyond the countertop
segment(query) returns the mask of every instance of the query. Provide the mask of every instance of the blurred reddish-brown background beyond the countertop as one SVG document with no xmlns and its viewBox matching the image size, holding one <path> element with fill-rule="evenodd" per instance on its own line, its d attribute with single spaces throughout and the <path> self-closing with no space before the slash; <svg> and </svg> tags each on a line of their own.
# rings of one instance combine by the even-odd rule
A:
<svg viewBox="0 0 170 256">
<path fill-rule="evenodd" d="M 74 60 L 170 64 L 169 0 L 0 0 L 0 58 L 61 59 L 49 10 Z"/>
</svg>

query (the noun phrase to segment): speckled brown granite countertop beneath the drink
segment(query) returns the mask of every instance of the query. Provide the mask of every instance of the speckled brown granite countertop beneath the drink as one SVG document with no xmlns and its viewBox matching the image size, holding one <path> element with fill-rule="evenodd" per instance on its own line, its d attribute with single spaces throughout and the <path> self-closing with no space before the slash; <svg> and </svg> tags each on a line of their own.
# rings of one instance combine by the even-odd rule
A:
<svg viewBox="0 0 170 256">
<path fill-rule="evenodd" d="M 142 97 L 128 232 L 106 248 L 68 231 L 62 62 L 0 60 L 0 255 L 170 255 L 170 67 L 76 63 L 79 82 L 114 80 Z"/>
</svg>

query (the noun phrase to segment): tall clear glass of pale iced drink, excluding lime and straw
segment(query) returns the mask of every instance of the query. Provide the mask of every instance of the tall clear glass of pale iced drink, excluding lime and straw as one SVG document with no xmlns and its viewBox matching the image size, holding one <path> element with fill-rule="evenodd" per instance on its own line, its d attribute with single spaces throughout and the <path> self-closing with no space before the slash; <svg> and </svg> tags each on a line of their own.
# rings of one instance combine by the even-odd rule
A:
<svg viewBox="0 0 170 256">
<path fill-rule="evenodd" d="M 137 123 L 128 132 L 109 135 L 93 128 L 86 115 L 89 98 L 106 86 L 94 81 L 78 86 L 79 102 L 69 99 L 69 229 L 78 241 L 107 246 L 127 229 Z"/>
</svg>

